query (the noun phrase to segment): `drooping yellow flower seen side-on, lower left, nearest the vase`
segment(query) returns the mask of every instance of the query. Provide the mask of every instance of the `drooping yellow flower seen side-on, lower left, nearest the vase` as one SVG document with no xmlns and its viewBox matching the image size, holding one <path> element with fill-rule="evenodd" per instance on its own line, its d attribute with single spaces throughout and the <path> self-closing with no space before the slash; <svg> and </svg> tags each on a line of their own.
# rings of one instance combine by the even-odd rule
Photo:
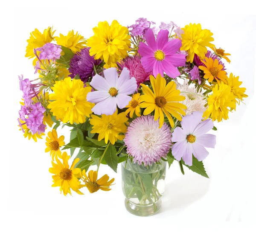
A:
<svg viewBox="0 0 256 232">
<path fill-rule="evenodd" d="M 99 178 L 99 180 L 97 180 L 97 178 L 98 178 L 97 171 L 90 170 L 87 176 L 85 170 L 83 170 L 81 180 L 83 180 L 85 184 L 81 186 L 87 187 L 90 193 L 97 192 L 99 189 L 103 191 L 111 190 L 109 186 L 113 185 L 112 183 L 115 180 L 114 178 L 109 180 L 109 176 L 107 174 L 102 176 L 102 178 Z"/>
</svg>

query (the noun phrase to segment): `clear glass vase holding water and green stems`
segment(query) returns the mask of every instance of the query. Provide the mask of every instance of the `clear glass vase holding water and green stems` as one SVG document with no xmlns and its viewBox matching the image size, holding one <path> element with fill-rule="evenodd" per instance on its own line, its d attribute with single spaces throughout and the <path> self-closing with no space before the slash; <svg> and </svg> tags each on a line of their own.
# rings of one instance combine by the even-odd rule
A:
<svg viewBox="0 0 256 232">
<path fill-rule="evenodd" d="M 125 208 L 138 216 L 154 215 L 161 209 L 165 189 L 166 162 L 138 165 L 130 159 L 122 162 L 122 191 Z"/>
</svg>

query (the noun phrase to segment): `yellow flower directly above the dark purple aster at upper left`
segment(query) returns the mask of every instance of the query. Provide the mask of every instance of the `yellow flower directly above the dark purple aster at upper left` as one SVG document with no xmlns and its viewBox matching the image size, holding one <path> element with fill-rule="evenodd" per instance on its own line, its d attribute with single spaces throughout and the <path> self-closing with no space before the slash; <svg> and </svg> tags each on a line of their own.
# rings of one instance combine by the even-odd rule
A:
<svg viewBox="0 0 256 232">
<path fill-rule="evenodd" d="M 78 34 L 74 34 L 74 30 L 69 31 L 67 35 L 60 34 L 59 37 L 55 37 L 55 40 L 58 45 L 69 48 L 72 52 L 80 52 L 82 48 L 85 47 L 86 39 L 83 36 Z"/>
</svg>

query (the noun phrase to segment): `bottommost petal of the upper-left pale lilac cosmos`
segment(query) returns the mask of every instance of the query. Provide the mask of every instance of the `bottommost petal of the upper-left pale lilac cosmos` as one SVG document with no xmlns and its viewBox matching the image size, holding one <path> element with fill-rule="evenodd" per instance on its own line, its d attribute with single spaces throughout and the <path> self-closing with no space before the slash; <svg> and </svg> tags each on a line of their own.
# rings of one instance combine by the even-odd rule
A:
<svg viewBox="0 0 256 232">
<path fill-rule="evenodd" d="M 92 111 L 96 115 L 113 115 L 116 112 L 116 97 L 109 96 L 105 100 L 97 103 Z"/>
</svg>

